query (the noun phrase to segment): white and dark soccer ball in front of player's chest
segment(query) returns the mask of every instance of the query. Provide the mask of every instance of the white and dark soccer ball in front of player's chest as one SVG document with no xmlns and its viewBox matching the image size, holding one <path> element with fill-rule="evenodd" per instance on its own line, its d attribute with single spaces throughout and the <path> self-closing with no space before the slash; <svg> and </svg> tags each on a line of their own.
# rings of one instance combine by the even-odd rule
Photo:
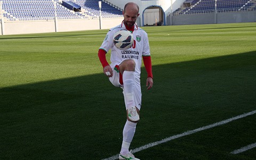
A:
<svg viewBox="0 0 256 160">
<path fill-rule="evenodd" d="M 114 45 L 119 50 L 127 50 L 133 44 L 133 36 L 129 30 L 121 29 L 114 34 Z"/>
</svg>

